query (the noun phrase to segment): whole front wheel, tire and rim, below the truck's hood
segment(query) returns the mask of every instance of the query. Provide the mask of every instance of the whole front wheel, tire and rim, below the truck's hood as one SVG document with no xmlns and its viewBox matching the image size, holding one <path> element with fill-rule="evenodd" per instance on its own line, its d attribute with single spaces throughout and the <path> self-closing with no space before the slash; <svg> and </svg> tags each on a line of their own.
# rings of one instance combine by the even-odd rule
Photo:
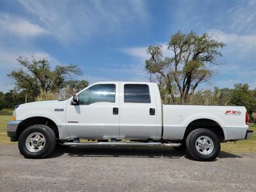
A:
<svg viewBox="0 0 256 192">
<path fill-rule="evenodd" d="M 19 137 L 19 150 L 29 159 L 44 158 L 51 154 L 56 145 L 54 131 L 46 125 L 31 125 Z"/>
</svg>

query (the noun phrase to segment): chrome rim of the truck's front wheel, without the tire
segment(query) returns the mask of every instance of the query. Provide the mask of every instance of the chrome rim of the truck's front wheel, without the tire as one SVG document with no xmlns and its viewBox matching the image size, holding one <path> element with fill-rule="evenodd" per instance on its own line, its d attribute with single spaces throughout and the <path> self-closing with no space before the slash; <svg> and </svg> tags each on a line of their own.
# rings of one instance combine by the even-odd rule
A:
<svg viewBox="0 0 256 192">
<path fill-rule="evenodd" d="M 33 132 L 29 134 L 26 139 L 26 148 L 30 152 L 39 152 L 45 146 L 45 137 L 40 132 Z"/>
</svg>

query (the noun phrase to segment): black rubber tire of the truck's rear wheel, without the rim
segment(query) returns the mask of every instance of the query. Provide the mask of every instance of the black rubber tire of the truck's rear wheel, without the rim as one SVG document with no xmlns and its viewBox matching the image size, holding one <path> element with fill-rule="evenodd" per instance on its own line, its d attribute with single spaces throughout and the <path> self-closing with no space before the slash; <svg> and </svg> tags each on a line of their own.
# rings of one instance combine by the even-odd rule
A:
<svg viewBox="0 0 256 192">
<path fill-rule="evenodd" d="M 213 149 L 210 154 L 201 154 L 196 149 L 196 145 L 198 144 L 196 144 L 196 140 L 204 136 L 210 138 L 213 142 Z M 189 156 L 196 161 L 213 161 L 220 154 L 220 139 L 209 129 L 196 129 L 189 133 L 188 138 L 186 139 L 186 147 Z M 209 152 L 210 151 L 211 150 L 209 150 Z"/>
</svg>

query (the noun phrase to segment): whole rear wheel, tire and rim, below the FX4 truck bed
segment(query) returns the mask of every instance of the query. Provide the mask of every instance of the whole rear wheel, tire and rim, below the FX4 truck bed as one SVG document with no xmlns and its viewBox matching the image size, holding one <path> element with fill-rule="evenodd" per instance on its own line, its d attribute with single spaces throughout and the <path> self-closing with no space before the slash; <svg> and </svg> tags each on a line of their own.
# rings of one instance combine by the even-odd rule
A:
<svg viewBox="0 0 256 192">
<path fill-rule="evenodd" d="M 212 161 L 220 154 L 220 139 L 209 129 L 196 129 L 186 139 L 189 156 L 197 161 Z"/>
</svg>

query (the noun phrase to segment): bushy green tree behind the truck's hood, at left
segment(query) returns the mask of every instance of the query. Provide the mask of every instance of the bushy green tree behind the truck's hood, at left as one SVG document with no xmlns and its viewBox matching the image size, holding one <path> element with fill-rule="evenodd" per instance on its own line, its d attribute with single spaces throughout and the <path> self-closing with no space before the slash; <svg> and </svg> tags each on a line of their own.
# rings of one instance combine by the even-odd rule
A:
<svg viewBox="0 0 256 192">
<path fill-rule="evenodd" d="M 17 61 L 22 68 L 13 70 L 8 76 L 15 80 L 17 90 L 24 90 L 34 98 L 38 96 L 40 90 L 46 93 L 59 92 L 73 75 L 82 74 L 81 69 L 74 64 L 56 65 L 54 70 L 51 70 L 46 58 L 36 60 L 32 56 L 31 60 L 28 60 L 28 58 L 19 57 Z"/>
</svg>

